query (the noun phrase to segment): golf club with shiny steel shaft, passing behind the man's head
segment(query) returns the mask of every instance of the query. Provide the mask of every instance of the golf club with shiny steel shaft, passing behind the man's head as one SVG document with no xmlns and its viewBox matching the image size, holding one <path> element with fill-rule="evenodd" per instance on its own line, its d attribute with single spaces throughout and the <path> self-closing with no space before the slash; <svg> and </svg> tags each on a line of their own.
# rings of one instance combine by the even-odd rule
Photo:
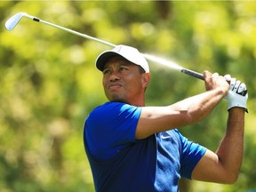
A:
<svg viewBox="0 0 256 192">
<path fill-rule="evenodd" d="M 50 26 L 52 26 L 54 28 L 60 28 L 62 30 L 67 31 L 68 33 L 74 34 L 76 36 L 82 36 L 82 37 L 87 38 L 87 39 L 91 39 L 91 40 L 96 41 L 96 42 L 98 42 L 100 44 L 106 44 L 108 46 L 116 47 L 116 44 L 111 44 L 111 43 L 109 43 L 107 41 L 104 41 L 104 40 L 101 40 L 99 38 L 95 38 L 93 36 L 88 36 L 88 35 L 79 33 L 77 31 L 69 29 L 69 28 L 63 28 L 63 27 L 61 27 L 59 25 L 53 24 L 53 23 L 45 21 L 45 20 L 40 20 L 40 19 L 38 19 L 38 18 L 36 18 L 34 16 L 28 15 L 26 12 L 18 12 L 16 14 L 14 14 L 9 20 L 7 20 L 5 22 L 5 28 L 7 30 L 11 31 L 13 28 L 15 28 L 15 26 L 18 24 L 18 22 L 23 17 L 31 19 L 31 20 L 34 20 L 36 22 L 42 22 L 42 23 L 44 23 L 46 25 L 50 25 Z M 181 73 L 187 74 L 188 76 L 194 76 L 194 77 L 196 77 L 198 79 L 204 80 L 203 74 L 197 73 L 196 71 L 190 70 L 188 68 L 182 68 L 180 65 L 178 65 L 178 64 L 176 64 L 176 63 L 174 63 L 172 61 L 159 59 L 159 58 L 156 58 L 155 56 L 152 56 L 152 55 L 149 55 L 149 54 L 144 54 L 144 53 L 141 53 L 141 54 L 144 56 L 144 58 L 146 60 L 154 61 L 156 63 L 165 65 L 165 66 L 167 66 L 169 68 L 173 68 L 173 69 L 179 70 Z"/>
</svg>

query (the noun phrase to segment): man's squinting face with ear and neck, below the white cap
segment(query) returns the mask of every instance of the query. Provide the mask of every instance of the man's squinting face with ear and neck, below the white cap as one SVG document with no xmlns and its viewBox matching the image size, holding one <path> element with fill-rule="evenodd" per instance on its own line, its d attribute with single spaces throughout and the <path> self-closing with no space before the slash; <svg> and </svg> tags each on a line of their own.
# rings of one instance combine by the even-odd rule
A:
<svg viewBox="0 0 256 192">
<path fill-rule="evenodd" d="M 102 72 L 103 87 L 109 101 L 121 101 L 134 106 L 144 104 L 149 74 L 141 74 L 137 65 L 120 56 L 108 59 Z"/>
</svg>

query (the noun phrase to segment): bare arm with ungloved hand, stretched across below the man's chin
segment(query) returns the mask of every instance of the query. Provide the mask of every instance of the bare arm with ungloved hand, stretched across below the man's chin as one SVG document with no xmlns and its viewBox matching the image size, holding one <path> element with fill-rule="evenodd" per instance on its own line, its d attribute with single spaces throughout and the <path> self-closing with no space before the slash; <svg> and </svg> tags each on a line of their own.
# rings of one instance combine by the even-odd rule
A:
<svg viewBox="0 0 256 192">
<path fill-rule="evenodd" d="M 147 138 L 188 124 L 195 124 L 208 116 L 228 92 L 229 84 L 223 76 L 204 72 L 207 92 L 181 100 L 166 107 L 144 107 L 140 114 L 135 138 Z"/>
</svg>

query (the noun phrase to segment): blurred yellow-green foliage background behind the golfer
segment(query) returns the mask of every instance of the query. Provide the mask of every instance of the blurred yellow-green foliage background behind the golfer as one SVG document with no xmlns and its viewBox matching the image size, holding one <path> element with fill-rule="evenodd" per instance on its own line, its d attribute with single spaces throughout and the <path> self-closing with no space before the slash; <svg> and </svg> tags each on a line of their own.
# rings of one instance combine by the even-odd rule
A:
<svg viewBox="0 0 256 192">
<path fill-rule="evenodd" d="M 235 185 L 181 180 L 180 191 L 256 189 L 256 3 L 251 1 L 2 1 L 0 2 L 0 190 L 94 191 L 84 153 L 84 119 L 106 100 L 94 68 L 99 44 L 43 23 L 28 12 L 113 44 L 137 47 L 198 72 L 231 74 L 249 90 L 245 151 Z M 204 82 L 149 63 L 147 105 L 168 105 L 204 92 Z M 225 100 L 200 124 L 180 129 L 215 151 L 225 132 Z"/>
</svg>

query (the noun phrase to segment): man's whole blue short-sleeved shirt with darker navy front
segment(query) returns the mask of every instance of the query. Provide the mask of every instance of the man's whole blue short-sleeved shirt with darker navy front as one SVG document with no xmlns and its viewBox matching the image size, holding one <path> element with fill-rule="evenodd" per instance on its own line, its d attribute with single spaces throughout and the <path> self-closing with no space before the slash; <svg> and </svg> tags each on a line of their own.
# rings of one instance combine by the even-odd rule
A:
<svg viewBox="0 0 256 192">
<path fill-rule="evenodd" d="M 135 140 L 141 109 L 107 102 L 86 118 L 84 148 L 96 191 L 178 191 L 180 177 L 191 179 L 206 148 L 177 129 Z"/>
</svg>

